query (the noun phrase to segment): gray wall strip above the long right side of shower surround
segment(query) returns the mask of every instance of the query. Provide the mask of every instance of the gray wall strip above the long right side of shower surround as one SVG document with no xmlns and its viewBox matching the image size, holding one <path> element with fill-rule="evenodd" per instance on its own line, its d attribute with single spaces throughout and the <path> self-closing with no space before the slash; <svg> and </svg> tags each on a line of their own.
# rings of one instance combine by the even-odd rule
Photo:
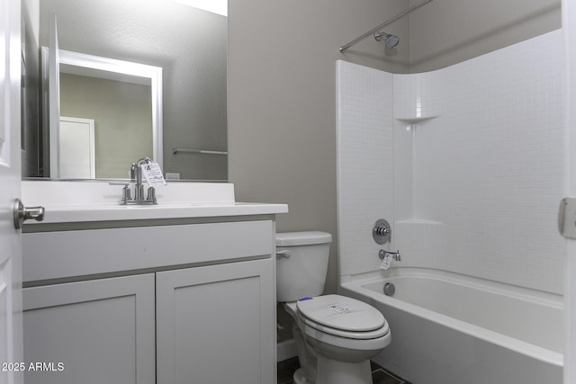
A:
<svg viewBox="0 0 576 384">
<path fill-rule="evenodd" d="M 560 0 L 434 0 L 410 16 L 410 71 L 447 67 L 560 27 Z"/>
</svg>

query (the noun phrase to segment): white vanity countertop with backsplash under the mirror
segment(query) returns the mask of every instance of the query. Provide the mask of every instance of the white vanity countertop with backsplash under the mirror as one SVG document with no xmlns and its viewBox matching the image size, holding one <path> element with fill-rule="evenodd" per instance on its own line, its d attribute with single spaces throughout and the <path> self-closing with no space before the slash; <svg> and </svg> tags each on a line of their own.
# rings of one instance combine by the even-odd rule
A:
<svg viewBox="0 0 576 384">
<path fill-rule="evenodd" d="M 28 220 L 26 225 L 288 212 L 286 204 L 234 201 L 229 183 L 169 183 L 157 188 L 157 205 L 120 205 L 120 196 L 121 186 L 108 183 L 24 181 L 24 204 L 45 209 L 43 221 Z"/>
</svg>

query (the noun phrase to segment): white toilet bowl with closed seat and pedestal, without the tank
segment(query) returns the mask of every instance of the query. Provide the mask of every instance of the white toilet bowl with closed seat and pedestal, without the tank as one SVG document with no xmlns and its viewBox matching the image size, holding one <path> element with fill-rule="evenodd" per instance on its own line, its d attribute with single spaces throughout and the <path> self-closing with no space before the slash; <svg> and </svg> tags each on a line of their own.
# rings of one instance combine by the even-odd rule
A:
<svg viewBox="0 0 576 384">
<path fill-rule="evenodd" d="M 296 332 L 308 344 L 306 353 L 313 355 L 313 359 L 306 359 L 308 365 L 315 363 L 313 367 L 303 364 L 300 377 L 294 378 L 296 383 L 372 383 L 370 359 L 392 338 L 388 323 L 377 309 L 339 295 L 284 303 L 284 308 L 293 316 Z"/>
</svg>

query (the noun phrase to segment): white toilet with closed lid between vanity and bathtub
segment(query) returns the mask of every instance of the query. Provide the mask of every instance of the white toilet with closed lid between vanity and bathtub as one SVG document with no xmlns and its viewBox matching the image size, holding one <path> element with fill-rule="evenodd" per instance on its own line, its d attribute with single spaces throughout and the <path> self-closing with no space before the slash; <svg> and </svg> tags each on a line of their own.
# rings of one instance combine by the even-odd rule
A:
<svg viewBox="0 0 576 384">
<path fill-rule="evenodd" d="M 390 344 L 380 311 L 363 301 L 323 295 L 332 236 L 276 234 L 276 300 L 293 317 L 301 368 L 297 384 L 372 384 L 370 359 Z"/>
</svg>

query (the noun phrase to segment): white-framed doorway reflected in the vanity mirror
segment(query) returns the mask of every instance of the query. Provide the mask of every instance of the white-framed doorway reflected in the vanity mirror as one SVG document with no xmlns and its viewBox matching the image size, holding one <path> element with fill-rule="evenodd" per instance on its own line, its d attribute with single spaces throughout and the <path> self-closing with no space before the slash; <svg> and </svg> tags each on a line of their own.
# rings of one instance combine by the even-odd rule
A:
<svg viewBox="0 0 576 384">
<path fill-rule="evenodd" d="M 141 156 L 162 167 L 162 68 L 62 49 L 58 61 L 50 177 L 126 178 L 127 165 Z"/>
</svg>

